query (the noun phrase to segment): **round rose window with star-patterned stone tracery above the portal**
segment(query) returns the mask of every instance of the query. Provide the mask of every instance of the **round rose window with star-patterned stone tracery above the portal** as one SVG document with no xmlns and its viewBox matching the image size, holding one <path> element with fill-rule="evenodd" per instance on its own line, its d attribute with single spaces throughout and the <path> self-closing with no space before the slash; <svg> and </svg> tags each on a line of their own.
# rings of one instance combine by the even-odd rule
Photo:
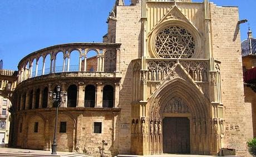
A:
<svg viewBox="0 0 256 157">
<path fill-rule="evenodd" d="M 190 58 L 195 53 L 195 40 L 188 30 L 171 26 L 156 36 L 155 49 L 162 58 Z"/>
</svg>

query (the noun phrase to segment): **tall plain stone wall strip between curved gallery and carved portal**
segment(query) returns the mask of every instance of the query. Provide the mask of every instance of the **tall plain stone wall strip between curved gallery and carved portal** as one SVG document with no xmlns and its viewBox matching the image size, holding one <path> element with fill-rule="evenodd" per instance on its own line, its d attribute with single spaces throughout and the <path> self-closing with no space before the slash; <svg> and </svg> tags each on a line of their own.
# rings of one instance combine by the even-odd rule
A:
<svg viewBox="0 0 256 157">
<path fill-rule="evenodd" d="M 141 2 L 141 1 L 140 1 Z M 116 13 L 116 43 L 122 43 L 120 52 L 120 124 L 119 154 L 130 154 L 131 148 L 131 103 L 132 103 L 132 59 L 140 58 L 141 50 L 141 4 L 136 6 L 118 6 Z M 128 128 L 127 128 L 128 127 Z M 131 127 L 130 127 L 131 128 Z"/>
</svg>

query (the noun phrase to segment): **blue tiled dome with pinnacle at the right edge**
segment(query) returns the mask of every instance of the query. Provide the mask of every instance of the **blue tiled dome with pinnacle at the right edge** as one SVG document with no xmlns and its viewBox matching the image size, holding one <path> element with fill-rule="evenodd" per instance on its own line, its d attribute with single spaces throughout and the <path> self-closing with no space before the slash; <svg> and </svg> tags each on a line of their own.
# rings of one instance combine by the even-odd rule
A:
<svg viewBox="0 0 256 157">
<path fill-rule="evenodd" d="M 248 39 L 244 40 L 241 43 L 242 48 L 242 57 L 245 57 L 247 55 L 256 55 L 256 39 L 252 36 L 252 31 L 248 32 Z"/>
</svg>

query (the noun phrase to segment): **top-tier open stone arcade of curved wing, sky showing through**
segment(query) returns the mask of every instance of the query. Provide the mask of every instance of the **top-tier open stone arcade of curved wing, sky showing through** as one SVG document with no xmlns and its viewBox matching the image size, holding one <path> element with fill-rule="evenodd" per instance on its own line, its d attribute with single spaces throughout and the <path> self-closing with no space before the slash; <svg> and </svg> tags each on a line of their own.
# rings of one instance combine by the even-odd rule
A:
<svg viewBox="0 0 256 157">
<path fill-rule="evenodd" d="M 24 57 L 18 64 L 18 83 L 40 75 L 63 72 L 119 72 L 120 45 L 114 43 L 70 43 L 54 45 L 33 52 Z M 78 65 L 70 65 L 71 53 L 78 52 Z M 93 51 L 95 57 L 87 56 Z M 62 66 L 56 65 L 57 54 L 62 53 Z M 50 57 L 48 57 L 50 56 Z M 47 60 L 48 58 L 48 60 Z M 39 62 L 39 60 L 42 62 Z M 62 58 L 61 58 L 62 59 Z M 89 59 L 89 60 L 88 60 Z M 87 63 L 90 61 L 90 63 Z M 46 67 L 46 62 L 50 65 Z M 41 64 L 41 66 L 39 66 Z M 87 67 L 90 64 L 92 67 Z M 35 68 L 33 68 L 35 67 Z M 41 68 L 39 68 L 41 67 Z"/>
</svg>

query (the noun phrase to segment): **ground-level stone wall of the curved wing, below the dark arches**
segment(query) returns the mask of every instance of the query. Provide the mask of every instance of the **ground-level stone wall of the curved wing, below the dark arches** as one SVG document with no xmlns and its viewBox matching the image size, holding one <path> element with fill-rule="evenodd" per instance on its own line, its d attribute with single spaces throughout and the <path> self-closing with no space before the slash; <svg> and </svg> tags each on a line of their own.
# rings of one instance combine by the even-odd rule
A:
<svg viewBox="0 0 256 157">
<path fill-rule="evenodd" d="M 60 108 L 57 121 L 57 151 L 78 151 L 90 156 L 100 156 L 102 140 L 105 140 L 108 143 L 105 146 L 105 154 L 116 155 L 117 148 L 114 147 L 116 114 L 111 109 L 103 110 Z M 19 120 L 15 145 L 26 149 L 50 150 L 55 126 L 54 115 L 54 108 L 19 112 L 16 117 Z M 66 121 L 66 133 L 60 133 L 61 121 Z M 38 122 L 38 132 L 35 132 L 36 122 Z M 94 133 L 94 122 L 102 123 L 101 133 Z"/>
</svg>

